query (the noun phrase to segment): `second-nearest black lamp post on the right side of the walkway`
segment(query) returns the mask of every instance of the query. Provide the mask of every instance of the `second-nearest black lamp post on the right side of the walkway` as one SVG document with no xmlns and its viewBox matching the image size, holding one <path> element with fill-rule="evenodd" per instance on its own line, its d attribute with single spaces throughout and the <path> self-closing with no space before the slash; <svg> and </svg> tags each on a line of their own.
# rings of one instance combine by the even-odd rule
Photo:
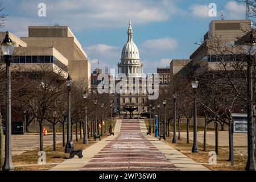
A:
<svg viewBox="0 0 256 182">
<path fill-rule="evenodd" d="M 192 152 L 199 152 L 198 146 L 197 146 L 197 121 L 196 121 L 196 89 L 198 87 L 199 81 L 193 80 L 191 82 L 192 88 L 194 89 L 195 92 L 195 100 L 194 100 L 194 114 L 193 114 L 193 147 L 192 147 Z"/>
</svg>

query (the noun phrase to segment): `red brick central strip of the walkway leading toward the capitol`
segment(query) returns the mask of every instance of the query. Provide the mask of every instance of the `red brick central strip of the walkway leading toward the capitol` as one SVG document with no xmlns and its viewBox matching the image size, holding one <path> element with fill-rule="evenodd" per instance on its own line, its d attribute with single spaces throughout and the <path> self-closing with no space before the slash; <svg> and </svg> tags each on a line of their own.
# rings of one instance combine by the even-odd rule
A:
<svg viewBox="0 0 256 182">
<path fill-rule="evenodd" d="M 107 144 L 82 170 L 178 170 L 141 133 L 137 120 L 123 120 L 119 135 Z"/>
</svg>

